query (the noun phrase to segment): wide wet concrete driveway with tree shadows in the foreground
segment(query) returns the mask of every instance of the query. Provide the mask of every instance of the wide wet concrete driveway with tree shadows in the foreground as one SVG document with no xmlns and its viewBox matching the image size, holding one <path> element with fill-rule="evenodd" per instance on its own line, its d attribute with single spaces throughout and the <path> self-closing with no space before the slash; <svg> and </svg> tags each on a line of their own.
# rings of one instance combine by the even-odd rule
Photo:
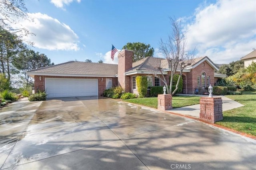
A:
<svg viewBox="0 0 256 170">
<path fill-rule="evenodd" d="M 98 97 L 0 110 L 1 169 L 255 169 L 256 140 Z"/>
</svg>

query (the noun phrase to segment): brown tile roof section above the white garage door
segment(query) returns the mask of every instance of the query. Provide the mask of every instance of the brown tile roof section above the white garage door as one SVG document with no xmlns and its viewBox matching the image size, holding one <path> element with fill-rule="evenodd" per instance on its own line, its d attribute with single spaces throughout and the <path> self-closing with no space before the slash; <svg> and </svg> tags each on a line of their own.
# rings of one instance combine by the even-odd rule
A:
<svg viewBox="0 0 256 170">
<path fill-rule="evenodd" d="M 69 61 L 66 63 L 46 66 L 27 71 L 30 76 L 52 75 L 52 76 L 105 76 L 115 77 L 118 72 L 117 64 L 86 63 L 80 61 Z"/>
</svg>

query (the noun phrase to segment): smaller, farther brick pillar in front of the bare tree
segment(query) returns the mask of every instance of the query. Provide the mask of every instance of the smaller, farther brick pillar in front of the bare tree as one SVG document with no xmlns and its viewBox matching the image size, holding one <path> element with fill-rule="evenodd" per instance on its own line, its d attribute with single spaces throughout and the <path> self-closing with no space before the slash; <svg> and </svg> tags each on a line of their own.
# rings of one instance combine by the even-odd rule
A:
<svg viewBox="0 0 256 170">
<path fill-rule="evenodd" d="M 160 110 L 172 109 L 172 95 L 170 94 L 158 94 L 158 106 Z"/>
</svg>

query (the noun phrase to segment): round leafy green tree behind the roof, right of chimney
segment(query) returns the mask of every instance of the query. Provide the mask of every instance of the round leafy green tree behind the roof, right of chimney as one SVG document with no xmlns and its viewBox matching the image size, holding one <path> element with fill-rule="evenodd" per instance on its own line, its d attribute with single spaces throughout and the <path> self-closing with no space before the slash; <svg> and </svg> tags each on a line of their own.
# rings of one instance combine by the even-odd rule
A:
<svg viewBox="0 0 256 170">
<path fill-rule="evenodd" d="M 154 48 L 150 48 L 150 45 L 146 45 L 144 43 L 127 43 L 124 45 L 122 49 L 128 49 L 133 51 L 132 61 L 139 61 L 144 59 L 145 57 L 153 56 L 154 55 Z"/>
</svg>

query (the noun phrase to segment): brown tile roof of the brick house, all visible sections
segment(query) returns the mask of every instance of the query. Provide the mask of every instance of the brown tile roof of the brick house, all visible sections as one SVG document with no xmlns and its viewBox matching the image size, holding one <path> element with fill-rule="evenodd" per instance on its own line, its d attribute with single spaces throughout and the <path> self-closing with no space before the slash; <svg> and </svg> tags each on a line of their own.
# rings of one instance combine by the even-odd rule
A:
<svg viewBox="0 0 256 170">
<path fill-rule="evenodd" d="M 197 64 L 203 59 L 209 59 L 206 57 L 195 58 L 190 66 Z M 210 59 L 209 59 L 210 60 Z M 211 60 L 210 60 L 211 61 Z M 214 64 L 214 63 L 213 63 Z M 127 72 L 134 72 L 136 70 L 141 71 L 156 71 L 159 67 L 169 68 L 167 59 L 157 57 L 146 57 L 140 61 L 132 63 L 132 68 Z M 126 73 L 127 73 L 126 72 Z M 76 75 L 106 75 L 115 76 L 118 73 L 118 64 L 106 64 L 106 63 L 86 63 L 80 61 L 69 61 L 66 63 L 56 64 L 52 66 L 46 66 L 34 70 L 27 71 L 29 75 L 44 73 L 44 74 L 76 74 Z"/>
</svg>

